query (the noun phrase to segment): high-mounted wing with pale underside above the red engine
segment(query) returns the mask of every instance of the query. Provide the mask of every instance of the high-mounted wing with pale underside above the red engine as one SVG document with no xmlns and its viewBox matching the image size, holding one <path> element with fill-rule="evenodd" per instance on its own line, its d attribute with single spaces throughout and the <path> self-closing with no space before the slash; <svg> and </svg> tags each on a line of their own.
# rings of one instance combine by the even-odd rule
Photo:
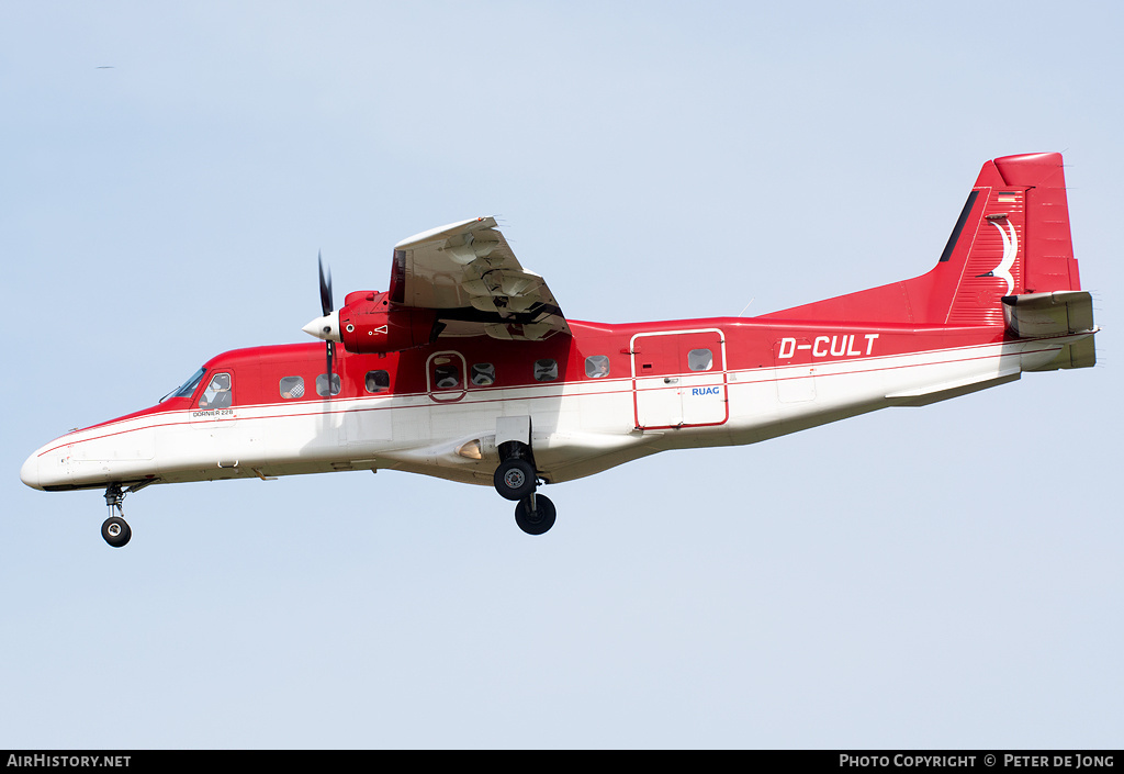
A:
<svg viewBox="0 0 1124 774">
<path fill-rule="evenodd" d="M 396 244 L 389 296 L 395 306 L 436 310 L 443 336 L 542 341 L 570 334 L 546 282 L 519 266 L 490 217 Z"/>
</svg>

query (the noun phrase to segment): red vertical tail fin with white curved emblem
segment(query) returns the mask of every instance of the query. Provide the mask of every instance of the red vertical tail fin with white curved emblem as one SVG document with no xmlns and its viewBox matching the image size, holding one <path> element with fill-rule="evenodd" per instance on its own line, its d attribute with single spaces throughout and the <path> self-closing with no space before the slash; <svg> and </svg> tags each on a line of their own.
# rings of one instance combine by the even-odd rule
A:
<svg viewBox="0 0 1124 774">
<path fill-rule="evenodd" d="M 984 164 L 928 273 L 764 317 L 1001 326 L 1005 297 L 1078 289 L 1061 154 L 1032 153 Z"/>
</svg>

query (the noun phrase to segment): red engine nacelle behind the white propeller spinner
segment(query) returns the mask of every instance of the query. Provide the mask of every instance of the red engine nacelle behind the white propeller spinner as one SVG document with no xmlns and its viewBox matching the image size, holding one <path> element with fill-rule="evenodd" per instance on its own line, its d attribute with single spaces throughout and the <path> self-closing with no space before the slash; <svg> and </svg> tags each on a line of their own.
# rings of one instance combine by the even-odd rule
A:
<svg viewBox="0 0 1124 774">
<path fill-rule="evenodd" d="M 384 292 L 350 292 L 339 308 L 339 334 L 348 352 L 408 350 L 432 343 L 438 333 L 436 312 L 392 307 Z"/>
</svg>

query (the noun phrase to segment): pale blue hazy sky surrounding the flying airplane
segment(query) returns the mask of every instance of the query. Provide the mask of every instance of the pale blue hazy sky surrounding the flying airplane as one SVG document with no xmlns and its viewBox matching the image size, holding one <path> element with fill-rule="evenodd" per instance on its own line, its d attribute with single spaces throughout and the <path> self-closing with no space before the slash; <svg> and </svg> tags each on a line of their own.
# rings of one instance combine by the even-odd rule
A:
<svg viewBox="0 0 1124 774">
<path fill-rule="evenodd" d="M 1120 747 L 1117 3 L 0 4 L 0 747 Z M 99 69 L 107 68 L 107 69 Z M 22 460 L 497 215 L 571 317 L 935 262 L 1062 151 L 1097 368 L 552 487 Z"/>
</svg>

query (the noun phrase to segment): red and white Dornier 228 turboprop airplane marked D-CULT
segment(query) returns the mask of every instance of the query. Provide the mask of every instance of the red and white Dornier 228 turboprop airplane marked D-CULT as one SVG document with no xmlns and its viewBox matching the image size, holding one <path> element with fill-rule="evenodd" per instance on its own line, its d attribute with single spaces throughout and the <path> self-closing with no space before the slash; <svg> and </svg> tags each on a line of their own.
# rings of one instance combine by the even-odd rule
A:
<svg viewBox="0 0 1124 774">
<path fill-rule="evenodd" d="M 160 404 L 47 443 L 24 483 L 105 487 L 118 547 L 121 502 L 149 484 L 380 468 L 490 484 L 540 534 L 541 484 L 1096 359 L 1057 153 L 984 164 L 928 273 L 760 317 L 566 320 L 492 218 L 400 242 L 389 290 L 338 309 L 321 266 L 320 300 L 305 331 L 326 346 L 212 358 Z"/>
</svg>

